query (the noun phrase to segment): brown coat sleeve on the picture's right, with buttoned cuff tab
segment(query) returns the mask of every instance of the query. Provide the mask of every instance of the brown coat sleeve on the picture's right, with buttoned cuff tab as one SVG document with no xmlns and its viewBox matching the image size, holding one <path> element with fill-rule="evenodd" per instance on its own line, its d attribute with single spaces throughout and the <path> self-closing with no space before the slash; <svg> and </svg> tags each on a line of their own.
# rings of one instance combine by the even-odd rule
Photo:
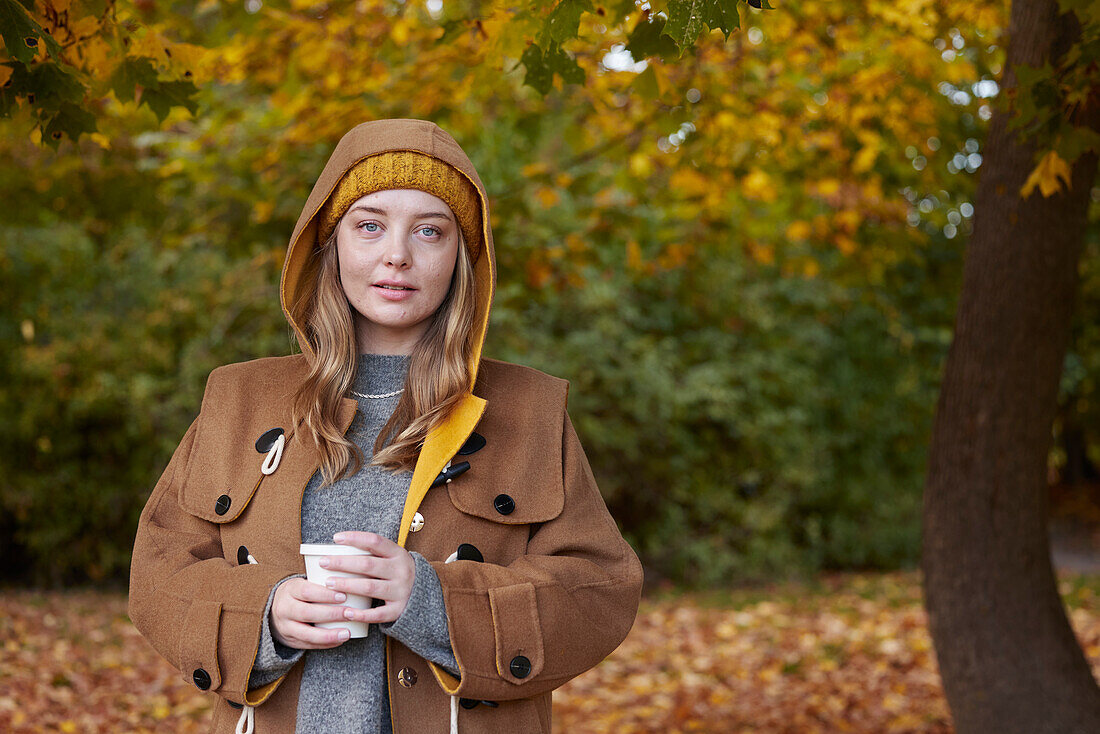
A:
<svg viewBox="0 0 1100 734">
<path fill-rule="evenodd" d="M 568 413 L 563 431 L 564 505 L 532 526 L 526 555 L 507 566 L 431 561 L 460 676 L 430 666 L 451 695 L 505 701 L 552 690 L 610 655 L 634 625 L 641 562 L 600 494 Z"/>
</svg>

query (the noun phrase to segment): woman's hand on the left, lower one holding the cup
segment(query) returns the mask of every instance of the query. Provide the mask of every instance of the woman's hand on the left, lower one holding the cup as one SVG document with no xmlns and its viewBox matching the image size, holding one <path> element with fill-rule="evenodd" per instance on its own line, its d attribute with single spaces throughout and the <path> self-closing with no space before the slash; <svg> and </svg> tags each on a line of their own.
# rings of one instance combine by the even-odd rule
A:
<svg viewBox="0 0 1100 734">
<path fill-rule="evenodd" d="M 314 622 L 342 622 L 346 596 L 305 579 L 289 579 L 275 590 L 272 599 L 272 637 L 300 650 L 324 649 L 342 645 L 351 635 L 346 629 L 315 627 Z"/>
</svg>

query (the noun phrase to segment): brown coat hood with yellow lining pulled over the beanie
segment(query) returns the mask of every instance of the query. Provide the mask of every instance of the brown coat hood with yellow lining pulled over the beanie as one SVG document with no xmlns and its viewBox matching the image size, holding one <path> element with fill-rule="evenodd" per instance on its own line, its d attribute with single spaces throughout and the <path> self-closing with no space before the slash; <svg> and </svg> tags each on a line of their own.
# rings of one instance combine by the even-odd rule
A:
<svg viewBox="0 0 1100 734">
<path fill-rule="evenodd" d="M 474 260 L 474 281 L 477 307 L 474 316 L 474 348 L 471 353 L 471 387 L 477 376 L 485 330 L 488 327 L 488 311 L 496 289 L 496 256 L 493 249 L 493 231 L 490 228 L 488 196 L 473 163 L 459 143 L 442 128 L 430 120 L 394 119 L 362 122 L 337 143 L 329 156 L 314 189 L 306 199 L 298 223 L 294 227 L 283 276 L 279 281 L 279 303 L 287 321 L 298 335 L 302 349 L 314 354 L 306 339 L 302 326 L 307 319 L 307 302 L 312 293 L 319 260 L 314 256 L 319 248 L 317 241 L 318 212 L 336 189 L 340 179 L 356 163 L 371 155 L 391 151 L 417 151 L 450 164 L 474 185 L 481 208 L 482 238 Z"/>
</svg>

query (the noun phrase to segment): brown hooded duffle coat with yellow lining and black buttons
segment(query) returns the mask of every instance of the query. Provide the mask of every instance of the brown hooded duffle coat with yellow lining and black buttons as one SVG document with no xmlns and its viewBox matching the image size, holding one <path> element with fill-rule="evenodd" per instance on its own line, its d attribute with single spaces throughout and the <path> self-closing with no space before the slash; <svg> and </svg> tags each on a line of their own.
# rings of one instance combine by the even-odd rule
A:
<svg viewBox="0 0 1100 734">
<path fill-rule="evenodd" d="M 573 430 L 568 383 L 481 357 L 496 282 L 488 198 L 447 132 L 426 120 L 378 120 L 340 140 L 290 238 L 279 287 L 283 310 L 300 335 L 296 295 L 315 275 L 309 254 L 316 215 L 356 162 L 393 150 L 420 151 L 465 174 L 479 193 L 483 232 L 475 261 L 476 381 L 425 441 L 397 539 L 424 555 L 439 576 L 460 679 L 387 637 L 394 734 L 446 732 L 449 695 L 497 702 L 459 706 L 463 734 L 549 734 L 551 691 L 603 660 L 634 624 L 642 569 L 607 512 Z M 292 354 L 215 369 L 199 415 L 139 521 L 130 617 L 188 681 L 217 695 L 212 732 L 232 732 L 242 703 L 255 706 L 257 734 L 295 730 L 301 661 L 263 688 L 246 687 L 272 587 L 305 573 L 298 552 L 301 496 L 320 457 L 311 441 L 296 436 L 290 402 L 307 359 Z M 355 409 L 354 398 L 342 398 L 344 430 Z M 276 427 L 285 430 L 286 443 L 276 470 L 264 474 L 256 439 Z M 485 446 L 457 457 L 475 428 Z M 471 469 L 432 489 L 452 459 L 469 461 Z M 410 533 L 417 512 L 422 529 Z M 444 562 L 460 544 L 475 546 L 484 560 Z M 246 562 L 249 555 L 260 562 Z"/>
</svg>

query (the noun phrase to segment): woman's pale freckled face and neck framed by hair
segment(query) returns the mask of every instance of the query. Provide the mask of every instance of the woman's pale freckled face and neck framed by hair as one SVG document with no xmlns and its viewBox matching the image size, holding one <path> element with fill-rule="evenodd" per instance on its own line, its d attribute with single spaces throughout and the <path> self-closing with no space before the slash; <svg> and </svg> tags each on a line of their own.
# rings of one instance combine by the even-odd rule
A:
<svg viewBox="0 0 1100 734">
<path fill-rule="evenodd" d="M 447 297 L 459 224 L 447 202 L 427 191 L 375 191 L 337 224 L 337 253 L 359 350 L 409 354 Z"/>
</svg>

